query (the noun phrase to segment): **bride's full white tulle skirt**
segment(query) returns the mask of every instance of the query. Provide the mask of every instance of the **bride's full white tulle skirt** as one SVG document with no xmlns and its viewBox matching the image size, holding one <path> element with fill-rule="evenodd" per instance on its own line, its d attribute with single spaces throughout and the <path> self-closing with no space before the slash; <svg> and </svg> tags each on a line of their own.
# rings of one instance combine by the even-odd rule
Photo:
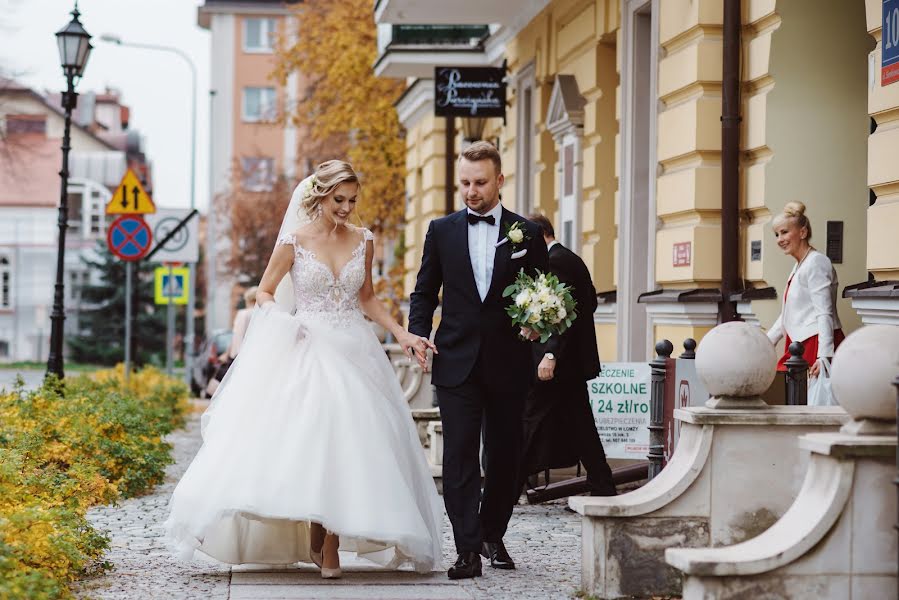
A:
<svg viewBox="0 0 899 600">
<path fill-rule="evenodd" d="M 402 390 L 358 312 L 257 309 L 166 523 L 181 555 L 311 562 L 310 522 L 388 568 L 441 560 L 441 503 Z"/>
</svg>

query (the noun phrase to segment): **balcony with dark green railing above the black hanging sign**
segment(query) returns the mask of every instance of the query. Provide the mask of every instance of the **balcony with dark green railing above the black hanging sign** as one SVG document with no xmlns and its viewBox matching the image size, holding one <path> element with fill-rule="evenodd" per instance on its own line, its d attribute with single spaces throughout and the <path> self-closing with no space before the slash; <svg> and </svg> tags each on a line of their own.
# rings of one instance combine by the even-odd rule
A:
<svg viewBox="0 0 899 600">
<path fill-rule="evenodd" d="M 487 25 L 378 25 L 378 77 L 434 77 L 436 65 L 483 66 Z"/>
</svg>

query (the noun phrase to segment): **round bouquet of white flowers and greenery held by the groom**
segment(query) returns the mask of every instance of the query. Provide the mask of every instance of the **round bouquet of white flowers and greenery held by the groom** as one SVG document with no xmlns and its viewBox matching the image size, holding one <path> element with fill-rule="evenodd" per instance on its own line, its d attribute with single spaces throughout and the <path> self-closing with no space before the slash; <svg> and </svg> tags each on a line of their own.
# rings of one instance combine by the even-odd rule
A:
<svg viewBox="0 0 899 600">
<path fill-rule="evenodd" d="M 541 344 L 553 334 L 563 333 L 577 318 L 571 288 L 552 273 L 537 271 L 537 277 L 532 278 L 520 270 L 515 283 L 503 290 L 503 298 L 509 296 L 514 302 L 506 307 L 506 314 L 514 324 L 540 334 Z"/>
</svg>

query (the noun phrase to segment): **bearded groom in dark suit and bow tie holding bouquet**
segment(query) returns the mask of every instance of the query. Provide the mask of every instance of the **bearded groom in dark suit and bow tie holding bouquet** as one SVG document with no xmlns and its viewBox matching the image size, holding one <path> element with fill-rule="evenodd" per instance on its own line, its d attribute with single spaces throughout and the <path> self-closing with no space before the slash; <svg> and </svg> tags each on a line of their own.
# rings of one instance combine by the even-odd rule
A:
<svg viewBox="0 0 899 600">
<path fill-rule="evenodd" d="M 499 202 L 504 177 L 492 144 L 469 146 L 458 172 L 466 208 L 431 221 L 409 308 L 409 331 L 424 338 L 414 347 L 424 365 L 443 287 L 431 381 L 443 421 L 443 497 L 459 553 L 450 579 L 481 575 L 481 554 L 495 568 L 515 568 L 503 535 L 520 492 L 522 415 L 533 366 L 530 344 L 506 315 L 509 299 L 502 293 L 520 269 L 545 272 L 549 261 L 540 229 Z M 515 223 L 524 236 L 512 234 L 513 241 L 507 232 Z M 534 338 L 530 330 L 522 331 Z"/>
</svg>

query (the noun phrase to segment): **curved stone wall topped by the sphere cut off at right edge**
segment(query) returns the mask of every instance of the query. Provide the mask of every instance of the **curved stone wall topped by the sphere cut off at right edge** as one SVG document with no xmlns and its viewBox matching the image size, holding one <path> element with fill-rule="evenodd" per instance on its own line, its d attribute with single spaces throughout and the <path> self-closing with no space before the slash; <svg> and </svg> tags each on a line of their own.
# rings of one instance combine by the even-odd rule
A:
<svg viewBox="0 0 899 600">
<path fill-rule="evenodd" d="M 666 552 L 668 564 L 686 576 L 684 600 L 897 597 L 897 502 L 890 485 L 896 472 L 896 328 L 856 331 L 840 345 L 833 366 L 834 395 L 852 420 L 839 432 L 799 439 L 811 453 L 805 480 L 770 528 L 735 545 Z"/>
</svg>

